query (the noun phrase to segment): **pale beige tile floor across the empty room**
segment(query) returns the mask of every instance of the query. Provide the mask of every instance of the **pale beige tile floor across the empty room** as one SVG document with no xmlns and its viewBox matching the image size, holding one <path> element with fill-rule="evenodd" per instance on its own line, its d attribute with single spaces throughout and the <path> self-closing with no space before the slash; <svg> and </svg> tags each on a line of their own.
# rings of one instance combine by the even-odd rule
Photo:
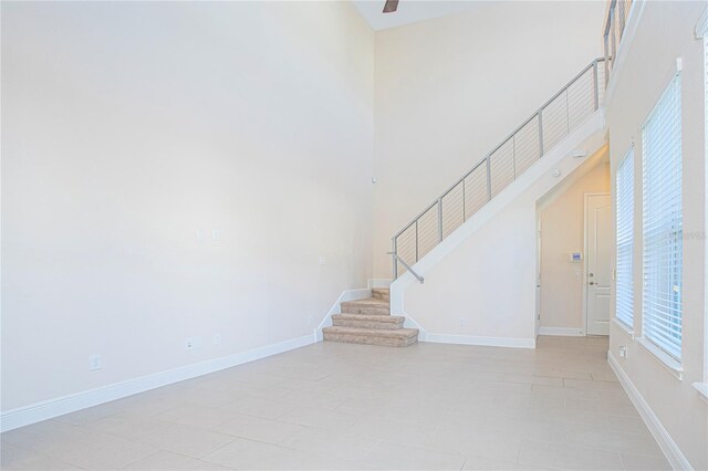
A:
<svg viewBox="0 0 708 471">
<path fill-rule="evenodd" d="M 670 469 L 606 350 L 320 343 L 6 432 L 2 469 Z"/>
</svg>

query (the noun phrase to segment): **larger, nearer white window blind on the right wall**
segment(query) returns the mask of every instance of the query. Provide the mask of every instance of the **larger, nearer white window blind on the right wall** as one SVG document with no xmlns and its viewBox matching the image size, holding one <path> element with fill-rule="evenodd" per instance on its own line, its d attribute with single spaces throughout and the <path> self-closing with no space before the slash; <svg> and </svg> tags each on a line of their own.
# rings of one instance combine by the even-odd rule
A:
<svg viewBox="0 0 708 471">
<path fill-rule="evenodd" d="M 642 129 L 643 336 L 676 359 L 681 356 L 684 257 L 680 86 L 677 74 Z"/>
</svg>

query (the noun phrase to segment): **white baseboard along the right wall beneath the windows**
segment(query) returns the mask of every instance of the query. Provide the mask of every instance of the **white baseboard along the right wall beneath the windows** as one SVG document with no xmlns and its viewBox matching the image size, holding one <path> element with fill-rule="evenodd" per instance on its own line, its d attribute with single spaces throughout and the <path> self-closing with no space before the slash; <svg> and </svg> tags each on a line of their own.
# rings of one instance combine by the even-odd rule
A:
<svg viewBox="0 0 708 471">
<path fill-rule="evenodd" d="M 629 396 L 629 399 L 632 399 L 634 407 L 639 411 L 639 416 L 644 419 L 644 423 L 646 423 L 647 428 L 654 436 L 654 439 L 659 444 L 659 448 L 671 464 L 671 468 L 675 470 L 693 470 L 694 468 L 690 465 L 690 462 L 686 459 L 671 436 L 668 433 L 668 430 L 664 428 L 659 418 L 656 417 L 656 414 L 654 414 L 639 390 L 634 386 L 632 379 L 629 379 L 624 369 L 622 369 L 620 362 L 617 362 L 617 358 L 615 358 L 612 352 L 607 352 L 607 363 L 610 363 L 610 367 L 612 367 L 612 370 L 617 375 L 620 384 L 624 388 L 625 393 L 627 393 L 627 396 Z"/>
</svg>

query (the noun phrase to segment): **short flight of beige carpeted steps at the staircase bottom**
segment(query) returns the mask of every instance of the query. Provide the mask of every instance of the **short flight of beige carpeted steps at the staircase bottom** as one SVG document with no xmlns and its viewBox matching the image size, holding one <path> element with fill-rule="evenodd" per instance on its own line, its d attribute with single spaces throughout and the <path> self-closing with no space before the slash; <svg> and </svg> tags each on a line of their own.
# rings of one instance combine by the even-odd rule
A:
<svg viewBox="0 0 708 471">
<path fill-rule="evenodd" d="M 342 314 L 333 314 L 332 327 L 322 329 L 324 339 L 389 347 L 418 342 L 417 328 L 404 328 L 405 317 L 391 315 L 388 289 L 374 287 L 372 295 L 342 303 Z"/>
</svg>

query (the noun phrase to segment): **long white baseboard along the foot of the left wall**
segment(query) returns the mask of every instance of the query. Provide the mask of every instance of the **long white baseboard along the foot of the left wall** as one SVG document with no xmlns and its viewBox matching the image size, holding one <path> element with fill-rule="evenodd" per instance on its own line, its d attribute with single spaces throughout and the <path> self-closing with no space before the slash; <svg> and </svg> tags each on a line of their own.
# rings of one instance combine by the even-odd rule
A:
<svg viewBox="0 0 708 471">
<path fill-rule="evenodd" d="M 192 365 L 181 366 L 167 371 L 143 376 L 126 381 L 116 383 L 96 389 L 90 389 L 55 399 L 37 402 L 31 406 L 11 409 L 0 415 L 0 431 L 17 429 L 42 420 L 75 412 L 87 407 L 98 406 L 112 400 L 121 399 L 134 394 L 144 393 L 162 386 L 171 385 L 185 379 L 219 371 L 221 369 L 242 365 L 256 359 L 264 358 L 279 353 L 288 352 L 305 345 L 313 344 L 312 335 L 291 338 L 277 344 L 264 345 L 248 352 L 214 358 Z"/>
</svg>

